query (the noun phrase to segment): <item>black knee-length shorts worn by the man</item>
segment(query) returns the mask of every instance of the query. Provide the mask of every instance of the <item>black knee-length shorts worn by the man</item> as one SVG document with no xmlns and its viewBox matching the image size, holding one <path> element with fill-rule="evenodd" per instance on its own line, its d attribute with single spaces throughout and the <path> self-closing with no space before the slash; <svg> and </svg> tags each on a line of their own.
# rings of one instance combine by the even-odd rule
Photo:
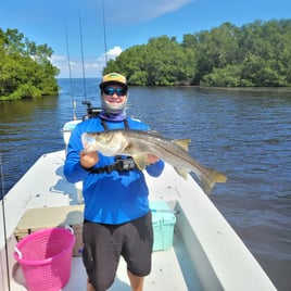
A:
<svg viewBox="0 0 291 291">
<path fill-rule="evenodd" d="M 85 222 L 83 261 L 90 283 L 96 290 L 109 289 L 114 282 L 122 255 L 127 269 L 139 277 L 151 271 L 153 246 L 152 215 L 122 225 Z"/>
</svg>

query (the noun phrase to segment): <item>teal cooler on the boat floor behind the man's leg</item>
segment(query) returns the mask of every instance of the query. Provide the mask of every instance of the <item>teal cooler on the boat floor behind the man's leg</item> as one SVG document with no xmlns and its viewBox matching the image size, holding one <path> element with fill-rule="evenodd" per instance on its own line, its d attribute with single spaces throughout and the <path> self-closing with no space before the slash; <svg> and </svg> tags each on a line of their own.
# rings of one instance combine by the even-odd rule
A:
<svg viewBox="0 0 291 291">
<path fill-rule="evenodd" d="M 173 245 L 176 216 L 164 201 L 151 201 L 153 225 L 153 252 L 165 251 Z"/>
</svg>

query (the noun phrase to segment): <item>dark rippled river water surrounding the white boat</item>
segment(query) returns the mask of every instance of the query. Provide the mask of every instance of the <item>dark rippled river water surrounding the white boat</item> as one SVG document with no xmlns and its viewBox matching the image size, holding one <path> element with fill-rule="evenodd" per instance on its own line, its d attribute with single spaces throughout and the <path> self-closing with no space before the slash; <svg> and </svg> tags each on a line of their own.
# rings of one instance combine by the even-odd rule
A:
<svg viewBox="0 0 291 291">
<path fill-rule="evenodd" d="M 2 193 L 41 154 L 63 149 L 73 99 L 78 117 L 85 99 L 100 105 L 98 80 L 59 83 L 59 97 L 0 103 Z M 227 175 L 211 200 L 278 290 L 291 290 L 291 92 L 134 87 L 127 114 L 191 138 L 191 155 Z"/>
</svg>

